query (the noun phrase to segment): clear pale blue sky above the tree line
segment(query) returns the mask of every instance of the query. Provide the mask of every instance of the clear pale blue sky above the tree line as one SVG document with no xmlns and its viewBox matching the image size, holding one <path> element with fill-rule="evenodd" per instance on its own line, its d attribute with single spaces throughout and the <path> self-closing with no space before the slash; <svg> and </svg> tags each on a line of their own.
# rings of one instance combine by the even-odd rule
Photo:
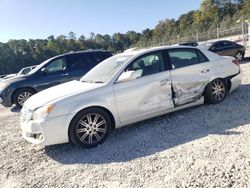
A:
<svg viewBox="0 0 250 188">
<path fill-rule="evenodd" d="M 177 19 L 202 0 L 0 0 L 0 42 L 45 39 L 70 31 L 76 36 L 153 29 Z"/>
</svg>

